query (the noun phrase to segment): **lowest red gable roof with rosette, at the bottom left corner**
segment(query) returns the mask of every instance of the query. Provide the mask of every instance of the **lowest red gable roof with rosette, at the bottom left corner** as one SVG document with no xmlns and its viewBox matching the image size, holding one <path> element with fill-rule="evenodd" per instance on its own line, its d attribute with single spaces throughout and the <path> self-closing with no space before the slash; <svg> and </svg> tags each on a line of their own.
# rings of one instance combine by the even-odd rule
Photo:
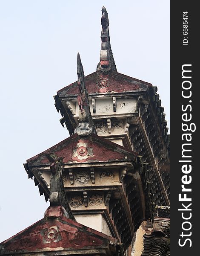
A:
<svg viewBox="0 0 200 256">
<path fill-rule="evenodd" d="M 25 253 L 110 255 L 108 251 L 112 251 L 112 255 L 122 255 L 122 244 L 113 237 L 67 218 L 62 206 L 49 207 L 44 218 L 0 244 L 0 255 L 10 256 Z"/>
</svg>

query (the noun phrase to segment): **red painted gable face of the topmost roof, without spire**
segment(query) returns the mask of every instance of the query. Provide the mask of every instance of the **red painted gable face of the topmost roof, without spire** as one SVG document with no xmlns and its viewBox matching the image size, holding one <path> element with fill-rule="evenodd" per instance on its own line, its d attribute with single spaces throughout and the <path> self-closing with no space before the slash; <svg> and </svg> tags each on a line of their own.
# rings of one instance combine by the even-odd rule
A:
<svg viewBox="0 0 200 256">
<path fill-rule="evenodd" d="M 152 84 L 120 74 L 118 72 L 110 72 L 104 74 L 101 72 L 94 72 L 85 77 L 86 89 L 89 94 L 94 93 L 122 93 L 126 91 L 141 91 L 147 90 L 148 87 L 152 87 Z M 64 97 L 67 94 L 78 94 L 79 89 L 77 81 L 69 84 L 69 86 L 57 92 L 59 97 Z"/>
</svg>

